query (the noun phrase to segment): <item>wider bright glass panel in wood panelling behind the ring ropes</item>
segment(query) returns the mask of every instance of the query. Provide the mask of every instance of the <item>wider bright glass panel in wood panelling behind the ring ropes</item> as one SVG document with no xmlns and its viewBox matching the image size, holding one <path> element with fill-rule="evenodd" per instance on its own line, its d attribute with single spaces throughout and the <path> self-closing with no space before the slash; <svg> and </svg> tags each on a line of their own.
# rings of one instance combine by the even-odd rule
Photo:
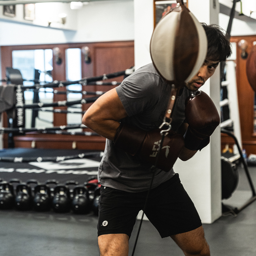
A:
<svg viewBox="0 0 256 256">
<path fill-rule="evenodd" d="M 52 49 L 13 50 L 12 68 L 20 70 L 22 78 L 28 80 L 23 81 L 25 86 L 34 85 L 33 81 L 38 76 L 41 82 L 52 82 L 52 59 Z M 36 97 L 39 97 L 41 102 L 51 103 L 53 102 L 53 89 L 40 88 L 38 92 L 28 90 L 24 92 L 24 97 L 25 104 L 32 104 Z M 47 107 L 46 109 L 53 110 L 53 107 Z M 53 127 L 53 112 L 32 111 L 32 109 L 26 109 L 25 111 L 26 128 Z"/>
</svg>

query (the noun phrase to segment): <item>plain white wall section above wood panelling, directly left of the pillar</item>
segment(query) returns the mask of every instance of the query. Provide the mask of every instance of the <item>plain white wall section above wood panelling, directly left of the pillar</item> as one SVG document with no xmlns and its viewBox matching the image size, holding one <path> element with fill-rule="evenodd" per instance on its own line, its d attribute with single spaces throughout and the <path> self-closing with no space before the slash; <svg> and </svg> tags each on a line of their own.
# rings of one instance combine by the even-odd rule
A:
<svg viewBox="0 0 256 256">
<path fill-rule="evenodd" d="M 72 42 L 134 40 L 133 0 L 90 2 L 78 10 Z"/>
</svg>

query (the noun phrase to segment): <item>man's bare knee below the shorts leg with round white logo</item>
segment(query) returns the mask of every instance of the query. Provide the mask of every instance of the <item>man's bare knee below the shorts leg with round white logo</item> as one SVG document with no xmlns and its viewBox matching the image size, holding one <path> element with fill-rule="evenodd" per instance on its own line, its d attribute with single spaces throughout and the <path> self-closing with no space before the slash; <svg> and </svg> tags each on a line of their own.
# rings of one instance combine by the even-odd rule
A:
<svg viewBox="0 0 256 256">
<path fill-rule="evenodd" d="M 129 236 L 126 234 L 107 234 L 98 236 L 101 256 L 128 256 Z"/>
</svg>

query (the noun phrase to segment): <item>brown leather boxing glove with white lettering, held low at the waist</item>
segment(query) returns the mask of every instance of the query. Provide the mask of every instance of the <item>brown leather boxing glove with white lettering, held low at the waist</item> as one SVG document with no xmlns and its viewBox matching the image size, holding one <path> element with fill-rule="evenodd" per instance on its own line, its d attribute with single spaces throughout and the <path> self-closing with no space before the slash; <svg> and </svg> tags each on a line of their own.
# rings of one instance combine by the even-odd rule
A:
<svg viewBox="0 0 256 256">
<path fill-rule="evenodd" d="M 121 124 L 114 138 L 114 146 L 127 153 L 138 156 L 143 162 L 156 164 L 162 135 L 160 129 L 146 132 L 134 126 Z M 156 167 L 163 171 L 170 171 L 184 146 L 184 139 L 180 134 L 170 132 L 164 138 L 162 149 Z"/>
</svg>

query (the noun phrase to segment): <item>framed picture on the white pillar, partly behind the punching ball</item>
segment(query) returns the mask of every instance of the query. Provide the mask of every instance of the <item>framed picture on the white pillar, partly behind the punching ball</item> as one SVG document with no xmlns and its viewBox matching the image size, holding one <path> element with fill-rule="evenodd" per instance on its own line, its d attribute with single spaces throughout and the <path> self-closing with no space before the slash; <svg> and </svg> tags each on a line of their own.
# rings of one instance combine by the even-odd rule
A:
<svg viewBox="0 0 256 256">
<path fill-rule="evenodd" d="M 187 0 L 183 0 L 184 4 L 187 5 Z M 161 18 L 177 5 L 176 0 L 154 0 L 154 27 L 161 20 Z"/>
</svg>

